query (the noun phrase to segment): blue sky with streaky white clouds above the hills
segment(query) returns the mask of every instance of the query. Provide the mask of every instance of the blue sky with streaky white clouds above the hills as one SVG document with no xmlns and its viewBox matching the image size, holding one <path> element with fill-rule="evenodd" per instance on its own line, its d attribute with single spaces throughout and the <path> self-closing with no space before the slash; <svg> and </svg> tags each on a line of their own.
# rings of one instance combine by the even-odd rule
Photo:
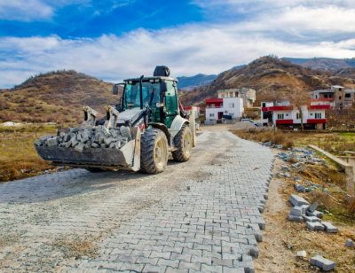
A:
<svg viewBox="0 0 355 273">
<path fill-rule="evenodd" d="M 219 74 L 269 54 L 355 58 L 353 0 L 0 0 L 0 88 L 58 69 Z"/>
</svg>

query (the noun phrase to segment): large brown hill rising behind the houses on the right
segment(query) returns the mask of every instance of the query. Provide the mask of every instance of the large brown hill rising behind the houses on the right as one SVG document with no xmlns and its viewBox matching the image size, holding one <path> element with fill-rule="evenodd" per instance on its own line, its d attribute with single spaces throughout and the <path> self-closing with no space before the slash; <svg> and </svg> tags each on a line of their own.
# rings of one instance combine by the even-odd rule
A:
<svg viewBox="0 0 355 273">
<path fill-rule="evenodd" d="M 331 85 L 355 88 L 355 80 L 333 76 L 329 71 L 292 64 L 286 59 L 262 57 L 248 66 L 225 71 L 209 86 L 201 87 L 185 95 L 185 105 L 204 105 L 206 98 L 217 98 L 217 90 L 251 88 L 258 99 L 277 96 L 280 90 L 291 91 L 294 87 L 306 90 L 328 89 Z"/>
</svg>

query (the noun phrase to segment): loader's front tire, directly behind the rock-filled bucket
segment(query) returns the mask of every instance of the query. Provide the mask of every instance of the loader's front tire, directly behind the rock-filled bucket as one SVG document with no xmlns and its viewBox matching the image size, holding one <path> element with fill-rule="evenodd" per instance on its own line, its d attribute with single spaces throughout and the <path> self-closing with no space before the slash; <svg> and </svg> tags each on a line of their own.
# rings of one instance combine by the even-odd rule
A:
<svg viewBox="0 0 355 273">
<path fill-rule="evenodd" d="M 168 164 L 168 140 L 160 129 L 147 130 L 140 143 L 140 168 L 147 174 L 161 173 Z"/>
</svg>

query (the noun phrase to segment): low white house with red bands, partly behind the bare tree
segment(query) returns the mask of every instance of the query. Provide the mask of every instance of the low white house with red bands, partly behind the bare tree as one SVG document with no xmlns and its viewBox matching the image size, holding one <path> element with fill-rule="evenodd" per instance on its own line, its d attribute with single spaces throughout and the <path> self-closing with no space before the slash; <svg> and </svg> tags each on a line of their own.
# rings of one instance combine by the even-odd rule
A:
<svg viewBox="0 0 355 273">
<path fill-rule="evenodd" d="M 287 125 L 294 128 L 301 126 L 301 117 L 298 109 L 292 105 L 274 105 L 262 103 L 262 125 Z M 304 105 L 302 106 L 305 129 L 326 129 L 326 110 L 330 105 Z"/>
</svg>

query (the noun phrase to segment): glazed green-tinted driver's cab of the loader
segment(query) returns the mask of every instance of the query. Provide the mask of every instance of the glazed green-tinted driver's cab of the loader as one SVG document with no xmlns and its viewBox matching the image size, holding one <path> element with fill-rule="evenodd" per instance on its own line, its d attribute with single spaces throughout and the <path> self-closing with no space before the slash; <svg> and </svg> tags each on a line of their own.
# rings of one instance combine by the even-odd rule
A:
<svg viewBox="0 0 355 273">
<path fill-rule="evenodd" d="M 159 122 L 170 128 L 179 114 L 177 80 L 170 77 L 149 77 L 124 80 L 122 110 L 143 109 L 152 111 L 150 122 Z"/>
</svg>

